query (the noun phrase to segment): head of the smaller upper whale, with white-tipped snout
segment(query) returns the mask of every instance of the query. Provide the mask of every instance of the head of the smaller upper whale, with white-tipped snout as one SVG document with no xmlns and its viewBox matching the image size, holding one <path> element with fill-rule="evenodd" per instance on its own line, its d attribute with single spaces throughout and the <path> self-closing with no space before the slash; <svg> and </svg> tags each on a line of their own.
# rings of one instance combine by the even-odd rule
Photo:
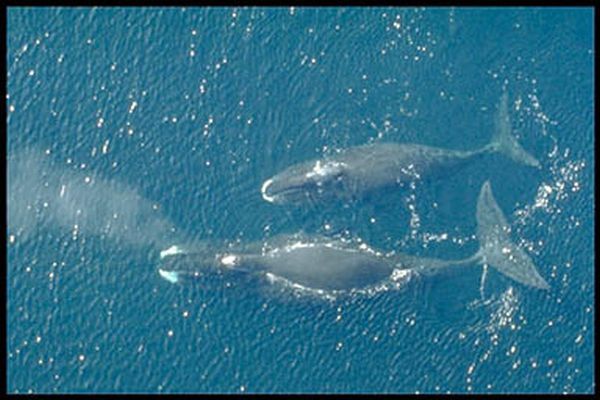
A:
<svg viewBox="0 0 600 400">
<path fill-rule="evenodd" d="M 346 164 L 317 160 L 293 165 L 267 179 L 262 187 L 263 199 L 286 204 L 316 200 L 342 189 Z"/>
</svg>

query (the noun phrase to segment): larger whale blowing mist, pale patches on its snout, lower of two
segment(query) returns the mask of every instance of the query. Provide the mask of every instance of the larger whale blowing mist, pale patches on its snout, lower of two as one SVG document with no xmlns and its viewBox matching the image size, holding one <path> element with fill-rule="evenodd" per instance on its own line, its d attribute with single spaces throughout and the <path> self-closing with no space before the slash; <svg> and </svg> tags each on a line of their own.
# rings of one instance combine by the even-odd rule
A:
<svg viewBox="0 0 600 400">
<path fill-rule="evenodd" d="M 254 243 L 234 250 L 186 250 L 172 246 L 161 252 L 158 272 L 170 282 L 198 276 L 210 269 L 270 273 L 310 289 L 350 290 L 376 285 L 396 269 L 430 273 L 461 265 L 490 265 L 505 276 L 540 289 L 549 286 L 529 256 L 511 242 L 510 228 L 485 182 L 477 201 L 479 250 L 462 260 L 384 254 L 368 246 L 351 246 L 338 239 L 283 235 L 274 242 Z"/>
</svg>

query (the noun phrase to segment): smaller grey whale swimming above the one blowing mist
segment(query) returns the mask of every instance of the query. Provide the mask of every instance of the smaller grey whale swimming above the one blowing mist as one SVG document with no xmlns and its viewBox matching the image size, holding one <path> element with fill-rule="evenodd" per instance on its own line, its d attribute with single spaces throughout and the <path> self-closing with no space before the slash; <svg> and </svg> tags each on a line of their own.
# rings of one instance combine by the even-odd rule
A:
<svg viewBox="0 0 600 400">
<path fill-rule="evenodd" d="M 511 135 L 506 92 L 500 99 L 495 123 L 491 142 L 477 150 L 449 150 L 412 143 L 350 147 L 323 159 L 290 166 L 267 179 L 261 194 L 263 199 L 276 204 L 356 198 L 384 187 L 439 177 L 495 152 L 518 163 L 540 166 Z"/>
</svg>

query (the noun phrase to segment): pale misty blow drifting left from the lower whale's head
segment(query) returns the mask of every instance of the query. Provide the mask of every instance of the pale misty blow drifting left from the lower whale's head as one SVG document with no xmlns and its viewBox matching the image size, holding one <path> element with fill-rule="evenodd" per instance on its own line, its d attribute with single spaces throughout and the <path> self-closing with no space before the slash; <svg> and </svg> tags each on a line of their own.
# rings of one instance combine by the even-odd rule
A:
<svg viewBox="0 0 600 400">
<path fill-rule="evenodd" d="M 8 233 L 35 238 L 72 230 L 135 246 L 163 246 L 173 225 L 159 207 L 127 185 L 56 165 L 39 149 L 8 157 Z"/>
</svg>

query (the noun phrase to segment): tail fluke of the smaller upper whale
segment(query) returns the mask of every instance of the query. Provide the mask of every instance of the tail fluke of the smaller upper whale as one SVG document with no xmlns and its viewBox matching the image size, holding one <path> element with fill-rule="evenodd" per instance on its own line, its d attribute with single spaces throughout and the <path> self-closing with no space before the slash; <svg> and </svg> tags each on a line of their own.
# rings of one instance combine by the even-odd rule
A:
<svg viewBox="0 0 600 400">
<path fill-rule="evenodd" d="M 495 124 L 495 133 L 492 142 L 488 145 L 491 150 L 500 152 L 517 163 L 540 168 L 540 162 L 521 147 L 511 133 L 511 123 L 508 115 L 508 93 L 506 91 L 502 93 L 500 98 Z"/>
</svg>

